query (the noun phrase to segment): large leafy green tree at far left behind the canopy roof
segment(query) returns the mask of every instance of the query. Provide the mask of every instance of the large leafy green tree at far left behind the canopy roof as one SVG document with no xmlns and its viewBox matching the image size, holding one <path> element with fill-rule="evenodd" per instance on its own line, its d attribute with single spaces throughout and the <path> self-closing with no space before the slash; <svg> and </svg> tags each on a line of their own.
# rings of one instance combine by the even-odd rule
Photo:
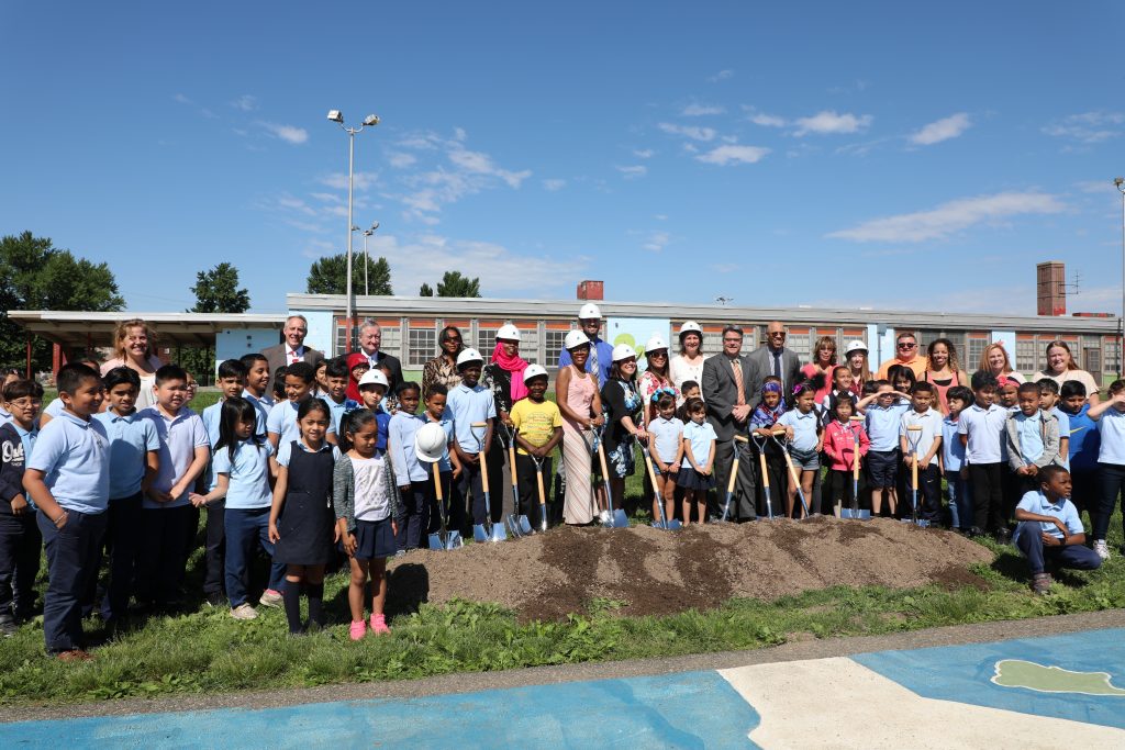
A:
<svg viewBox="0 0 1125 750">
<path fill-rule="evenodd" d="M 0 237 L 0 363 L 21 365 L 25 332 L 8 310 L 84 310 L 110 313 L 125 305 L 106 263 L 75 257 L 54 246 L 50 237 L 30 232 Z M 51 367 L 51 345 L 32 340 L 32 365 Z"/>
</svg>

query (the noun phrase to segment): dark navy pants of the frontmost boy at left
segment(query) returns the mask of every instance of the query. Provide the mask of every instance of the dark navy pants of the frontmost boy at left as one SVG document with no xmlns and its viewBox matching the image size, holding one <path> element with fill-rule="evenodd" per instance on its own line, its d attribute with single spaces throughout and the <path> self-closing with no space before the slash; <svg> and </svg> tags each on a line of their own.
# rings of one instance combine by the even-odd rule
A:
<svg viewBox="0 0 1125 750">
<path fill-rule="evenodd" d="M 43 600 L 43 636 L 47 651 L 60 653 L 83 645 L 82 596 L 97 573 L 98 551 L 106 533 L 106 514 L 68 510 L 66 524 L 56 528 L 36 513 L 47 551 L 47 595 Z"/>
</svg>

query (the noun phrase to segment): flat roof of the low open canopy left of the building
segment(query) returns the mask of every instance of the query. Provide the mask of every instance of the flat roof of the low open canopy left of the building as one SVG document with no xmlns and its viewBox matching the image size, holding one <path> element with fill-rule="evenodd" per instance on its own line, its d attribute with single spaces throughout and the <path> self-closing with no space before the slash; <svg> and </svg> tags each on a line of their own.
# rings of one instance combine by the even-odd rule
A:
<svg viewBox="0 0 1125 750">
<path fill-rule="evenodd" d="M 224 328 L 277 328 L 280 332 L 287 315 L 8 310 L 8 317 L 36 336 L 65 346 L 111 346 L 114 328 L 130 318 L 152 324 L 160 346 L 209 346 Z"/>
</svg>

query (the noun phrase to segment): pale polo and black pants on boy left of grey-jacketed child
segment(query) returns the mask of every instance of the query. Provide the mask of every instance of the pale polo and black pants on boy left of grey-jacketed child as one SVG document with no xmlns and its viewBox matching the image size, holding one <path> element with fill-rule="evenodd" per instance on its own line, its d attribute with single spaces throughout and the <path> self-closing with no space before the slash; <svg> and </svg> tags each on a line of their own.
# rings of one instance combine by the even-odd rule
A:
<svg viewBox="0 0 1125 750">
<path fill-rule="evenodd" d="M 1004 428 L 1008 410 L 990 404 L 982 408 L 973 404 L 961 413 L 957 435 L 965 435 L 965 463 L 973 491 L 972 528 L 999 531 L 1007 528 L 1004 507 Z"/>
</svg>

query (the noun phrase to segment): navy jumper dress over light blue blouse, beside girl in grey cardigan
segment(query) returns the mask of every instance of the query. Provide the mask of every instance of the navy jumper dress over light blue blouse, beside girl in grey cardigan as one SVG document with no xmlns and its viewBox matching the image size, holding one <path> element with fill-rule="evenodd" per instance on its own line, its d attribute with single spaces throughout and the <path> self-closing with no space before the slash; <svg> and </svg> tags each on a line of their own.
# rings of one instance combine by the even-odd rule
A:
<svg viewBox="0 0 1125 750">
<path fill-rule="evenodd" d="M 280 539 L 273 546 L 278 564 L 323 566 L 333 559 L 332 471 L 340 449 L 321 443 L 313 451 L 304 441 L 278 450 L 278 464 L 286 467 L 285 505 L 278 514 Z"/>
</svg>

